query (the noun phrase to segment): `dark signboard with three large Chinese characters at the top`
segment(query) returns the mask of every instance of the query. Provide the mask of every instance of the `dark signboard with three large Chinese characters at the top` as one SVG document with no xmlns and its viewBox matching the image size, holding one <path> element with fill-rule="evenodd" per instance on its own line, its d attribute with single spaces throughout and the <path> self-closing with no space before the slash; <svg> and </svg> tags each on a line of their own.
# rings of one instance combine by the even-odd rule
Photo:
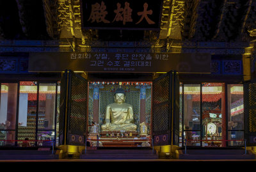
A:
<svg viewBox="0 0 256 172">
<path fill-rule="evenodd" d="M 84 28 L 159 29 L 162 1 L 82 0 Z"/>
</svg>

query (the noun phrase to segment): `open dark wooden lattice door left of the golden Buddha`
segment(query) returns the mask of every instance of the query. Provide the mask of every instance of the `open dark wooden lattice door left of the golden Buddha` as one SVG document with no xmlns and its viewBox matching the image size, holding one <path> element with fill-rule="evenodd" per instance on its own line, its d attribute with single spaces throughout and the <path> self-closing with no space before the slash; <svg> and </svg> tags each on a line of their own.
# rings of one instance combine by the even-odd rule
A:
<svg viewBox="0 0 256 172">
<path fill-rule="evenodd" d="M 61 82 L 60 145 L 84 145 L 88 81 L 69 70 L 65 72 Z"/>
</svg>

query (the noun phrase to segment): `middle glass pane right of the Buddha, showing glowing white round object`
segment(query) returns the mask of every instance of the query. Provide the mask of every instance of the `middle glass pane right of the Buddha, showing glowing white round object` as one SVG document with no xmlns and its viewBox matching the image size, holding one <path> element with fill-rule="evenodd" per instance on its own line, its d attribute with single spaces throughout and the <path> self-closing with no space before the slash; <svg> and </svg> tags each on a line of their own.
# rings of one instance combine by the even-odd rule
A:
<svg viewBox="0 0 256 172">
<path fill-rule="evenodd" d="M 202 146 L 225 146 L 225 83 L 202 83 Z"/>
</svg>

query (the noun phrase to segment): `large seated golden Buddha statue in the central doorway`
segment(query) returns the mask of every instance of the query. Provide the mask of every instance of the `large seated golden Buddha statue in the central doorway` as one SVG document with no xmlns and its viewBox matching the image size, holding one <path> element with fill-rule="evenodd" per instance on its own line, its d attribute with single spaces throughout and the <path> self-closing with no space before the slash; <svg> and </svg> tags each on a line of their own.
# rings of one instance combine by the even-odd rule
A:
<svg viewBox="0 0 256 172">
<path fill-rule="evenodd" d="M 106 107 L 105 123 L 101 125 L 102 131 L 136 131 L 134 124 L 133 108 L 125 103 L 125 91 L 118 88 L 114 95 L 115 103 Z"/>
</svg>

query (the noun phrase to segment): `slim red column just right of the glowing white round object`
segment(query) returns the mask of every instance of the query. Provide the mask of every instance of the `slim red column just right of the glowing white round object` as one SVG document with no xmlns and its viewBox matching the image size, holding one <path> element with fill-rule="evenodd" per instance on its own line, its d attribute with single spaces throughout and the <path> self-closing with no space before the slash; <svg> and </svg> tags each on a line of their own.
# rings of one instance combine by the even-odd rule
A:
<svg viewBox="0 0 256 172">
<path fill-rule="evenodd" d="M 225 104 L 225 85 L 222 86 L 221 93 L 221 146 L 225 147 L 227 142 L 225 141 L 227 133 L 226 133 L 226 104 Z"/>
</svg>

